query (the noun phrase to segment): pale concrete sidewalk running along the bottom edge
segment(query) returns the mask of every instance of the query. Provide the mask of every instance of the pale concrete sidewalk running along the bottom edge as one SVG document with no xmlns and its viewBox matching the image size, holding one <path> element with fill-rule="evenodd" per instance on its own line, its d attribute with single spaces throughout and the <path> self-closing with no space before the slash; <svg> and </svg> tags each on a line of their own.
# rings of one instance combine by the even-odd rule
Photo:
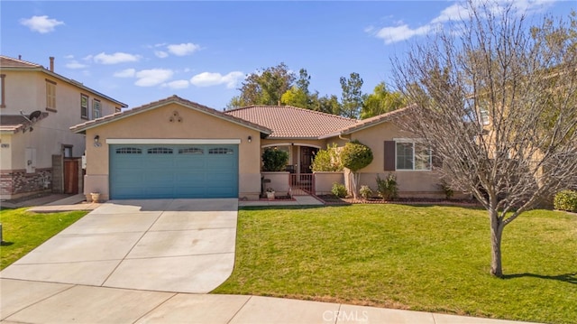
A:
<svg viewBox="0 0 577 324">
<path fill-rule="evenodd" d="M 150 292 L 0 279 L 3 323 L 514 324 L 421 311 L 259 296 Z"/>
</svg>

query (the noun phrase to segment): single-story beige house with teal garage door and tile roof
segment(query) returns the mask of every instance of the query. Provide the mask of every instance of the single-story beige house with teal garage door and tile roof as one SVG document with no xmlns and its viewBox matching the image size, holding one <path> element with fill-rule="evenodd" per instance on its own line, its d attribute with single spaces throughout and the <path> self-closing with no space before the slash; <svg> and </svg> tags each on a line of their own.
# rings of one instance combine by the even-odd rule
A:
<svg viewBox="0 0 577 324">
<path fill-rule="evenodd" d="M 355 139 L 374 155 L 362 184 L 393 172 L 401 196 L 442 197 L 430 150 L 393 123 L 406 111 L 358 121 L 293 106 L 221 112 L 172 96 L 70 129 L 86 134 L 88 199 L 258 199 L 264 149 L 288 151 L 287 170 L 300 176 L 319 149 Z"/>
</svg>

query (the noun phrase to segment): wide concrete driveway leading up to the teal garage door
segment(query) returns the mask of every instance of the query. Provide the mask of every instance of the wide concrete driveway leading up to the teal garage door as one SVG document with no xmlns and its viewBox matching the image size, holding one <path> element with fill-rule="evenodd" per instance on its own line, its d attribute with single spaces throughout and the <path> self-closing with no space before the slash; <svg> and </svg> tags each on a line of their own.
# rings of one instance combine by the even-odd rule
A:
<svg viewBox="0 0 577 324">
<path fill-rule="evenodd" d="M 237 214 L 238 199 L 111 200 L 0 277 L 210 292 L 233 272 Z"/>
</svg>

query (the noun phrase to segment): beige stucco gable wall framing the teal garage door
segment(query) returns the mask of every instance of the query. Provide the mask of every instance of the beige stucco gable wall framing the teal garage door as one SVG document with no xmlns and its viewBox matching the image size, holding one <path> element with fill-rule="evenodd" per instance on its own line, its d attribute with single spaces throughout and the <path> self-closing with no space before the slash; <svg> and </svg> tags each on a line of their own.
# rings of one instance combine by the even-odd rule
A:
<svg viewBox="0 0 577 324">
<path fill-rule="evenodd" d="M 169 121 L 175 113 L 182 122 Z M 100 147 L 94 145 L 96 134 L 100 136 Z M 85 194 L 98 190 L 101 199 L 109 199 L 107 139 L 240 139 L 239 197 L 258 199 L 261 192 L 260 132 L 172 103 L 87 130 Z"/>
</svg>

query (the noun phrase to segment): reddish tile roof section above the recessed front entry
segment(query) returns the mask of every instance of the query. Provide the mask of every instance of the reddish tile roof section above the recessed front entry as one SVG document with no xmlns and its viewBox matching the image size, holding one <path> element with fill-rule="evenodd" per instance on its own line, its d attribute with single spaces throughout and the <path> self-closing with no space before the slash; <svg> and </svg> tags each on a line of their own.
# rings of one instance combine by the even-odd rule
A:
<svg viewBox="0 0 577 324">
<path fill-rule="evenodd" d="M 224 114 L 270 128 L 269 138 L 316 139 L 357 123 L 356 119 L 295 106 L 246 106 Z"/>
</svg>

